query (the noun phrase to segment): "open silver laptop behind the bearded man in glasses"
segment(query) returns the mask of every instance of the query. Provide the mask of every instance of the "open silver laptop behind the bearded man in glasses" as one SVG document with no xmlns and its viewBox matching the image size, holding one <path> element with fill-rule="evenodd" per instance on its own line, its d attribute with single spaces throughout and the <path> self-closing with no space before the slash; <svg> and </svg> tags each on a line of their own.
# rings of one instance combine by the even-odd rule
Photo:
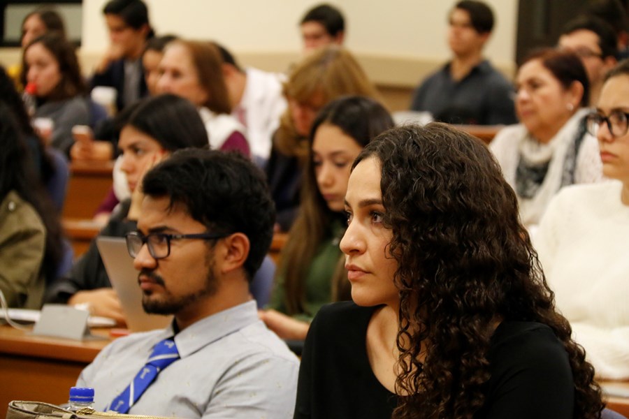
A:
<svg viewBox="0 0 629 419">
<path fill-rule="evenodd" d="M 122 237 L 96 237 L 96 246 L 109 276 L 111 286 L 116 291 L 126 326 L 131 332 L 144 332 L 165 328 L 173 321 L 173 316 L 147 314 L 142 307 L 142 290 L 138 286 L 138 271 L 133 267 L 133 258 L 126 250 Z"/>
</svg>

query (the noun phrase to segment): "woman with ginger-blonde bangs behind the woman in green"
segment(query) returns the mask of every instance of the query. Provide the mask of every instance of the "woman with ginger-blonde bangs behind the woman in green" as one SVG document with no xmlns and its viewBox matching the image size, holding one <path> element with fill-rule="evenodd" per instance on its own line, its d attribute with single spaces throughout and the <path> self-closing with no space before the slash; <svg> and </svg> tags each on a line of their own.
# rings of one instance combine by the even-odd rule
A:
<svg viewBox="0 0 629 419">
<path fill-rule="evenodd" d="M 288 231 L 297 215 L 301 172 L 308 161 L 308 134 L 317 113 L 340 96 L 356 94 L 379 98 L 363 68 L 347 50 L 321 48 L 298 64 L 284 84 L 289 103 L 273 135 L 266 166 L 275 207 L 277 229 Z"/>
</svg>

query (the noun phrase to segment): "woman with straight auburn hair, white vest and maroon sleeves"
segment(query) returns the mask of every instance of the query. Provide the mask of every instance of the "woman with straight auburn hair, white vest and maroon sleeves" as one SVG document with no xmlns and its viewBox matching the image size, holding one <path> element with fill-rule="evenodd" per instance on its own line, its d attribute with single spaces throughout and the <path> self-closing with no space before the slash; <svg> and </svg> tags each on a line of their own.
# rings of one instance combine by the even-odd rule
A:
<svg viewBox="0 0 629 419">
<path fill-rule="evenodd" d="M 250 156 L 245 127 L 232 117 L 217 48 L 208 42 L 175 40 L 159 63 L 159 93 L 187 98 L 198 108 L 212 149 L 235 149 Z"/>
</svg>

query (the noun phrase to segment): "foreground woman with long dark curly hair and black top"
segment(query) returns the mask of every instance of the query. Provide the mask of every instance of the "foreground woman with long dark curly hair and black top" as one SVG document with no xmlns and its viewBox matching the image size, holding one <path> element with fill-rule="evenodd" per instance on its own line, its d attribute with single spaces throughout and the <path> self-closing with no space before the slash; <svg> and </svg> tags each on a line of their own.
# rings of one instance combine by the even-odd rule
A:
<svg viewBox="0 0 629 419">
<path fill-rule="evenodd" d="M 354 302 L 312 322 L 295 418 L 600 417 L 482 143 L 438 123 L 386 131 L 354 161 L 345 210 Z"/>
</svg>

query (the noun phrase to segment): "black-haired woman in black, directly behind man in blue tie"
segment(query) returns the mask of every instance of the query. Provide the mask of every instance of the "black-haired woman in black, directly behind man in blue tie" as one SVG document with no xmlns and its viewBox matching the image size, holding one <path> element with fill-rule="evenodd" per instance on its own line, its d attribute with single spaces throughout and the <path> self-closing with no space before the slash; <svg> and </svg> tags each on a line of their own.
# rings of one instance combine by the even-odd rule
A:
<svg viewBox="0 0 629 419">
<path fill-rule="evenodd" d="M 208 133 L 194 105 L 172 94 L 140 101 L 122 123 L 118 147 L 122 152 L 122 170 L 132 192 L 131 198 L 117 205 L 100 235 L 123 237 L 136 228 L 142 194 L 138 185 L 154 163 L 177 149 L 208 147 Z M 95 316 L 115 319 L 124 325 L 120 300 L 111 288 L 96 241 L 71 270 L 50 284 L 45 302 L 80 304 Z"/>
</svg>

